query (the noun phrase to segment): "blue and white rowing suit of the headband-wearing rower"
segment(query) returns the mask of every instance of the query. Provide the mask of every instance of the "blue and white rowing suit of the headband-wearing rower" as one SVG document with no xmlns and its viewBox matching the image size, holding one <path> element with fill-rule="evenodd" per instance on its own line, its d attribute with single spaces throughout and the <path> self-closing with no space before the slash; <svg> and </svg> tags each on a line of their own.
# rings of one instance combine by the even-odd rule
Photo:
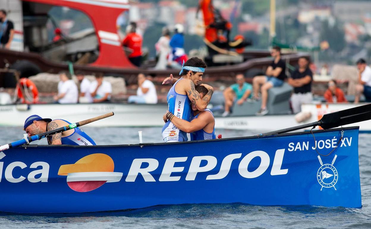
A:
<svg viewBox="0 0 371 229">
<path fill-rule="evenodd" d="M 169 111 L 173 113 L 176 117 L 187 120 L 191 119 L 191 101 L 187 95 L 181 95 L 175 92 L 175 85 L 183 78 L 178 79 L 177 82 L 170 88 L 167 94 L 167 104 L 169 106 Z M 162 137 L 164 141 L 187 141 L 187 133 L 179 130 L 175 125 L 167 121 L 162 127 Z"/>
</svg>

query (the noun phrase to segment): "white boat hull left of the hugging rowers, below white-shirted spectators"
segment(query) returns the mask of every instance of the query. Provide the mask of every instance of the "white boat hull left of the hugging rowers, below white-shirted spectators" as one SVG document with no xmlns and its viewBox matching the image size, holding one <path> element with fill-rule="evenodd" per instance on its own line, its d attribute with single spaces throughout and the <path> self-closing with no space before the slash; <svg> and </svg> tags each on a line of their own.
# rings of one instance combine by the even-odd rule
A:
<svg viewBox="0 0 371 229">
<path fill-rule="evenodd" d="M 0 106 L 0 125 L 23 126 L 30 115 L 64 119 L 70 122 L 86 120 L 108 112 L 115 115 L 89 124 L 91 127 L 161 127 L 167 105 L 137 104 L 31 104 Z"/>
</svg>

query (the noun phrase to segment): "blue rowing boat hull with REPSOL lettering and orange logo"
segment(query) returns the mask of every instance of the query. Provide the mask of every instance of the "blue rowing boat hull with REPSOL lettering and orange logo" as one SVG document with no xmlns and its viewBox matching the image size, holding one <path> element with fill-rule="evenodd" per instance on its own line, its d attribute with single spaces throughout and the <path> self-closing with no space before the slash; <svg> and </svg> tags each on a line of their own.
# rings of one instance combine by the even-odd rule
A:
<svg viewBox="0 0 371 229">
<path fill-rule="evenodd" d="M 23 145 L 0 157 L 3 212 L 236 202 L 362 206 L 358 127 L 184 143 Z"/>
</svg>

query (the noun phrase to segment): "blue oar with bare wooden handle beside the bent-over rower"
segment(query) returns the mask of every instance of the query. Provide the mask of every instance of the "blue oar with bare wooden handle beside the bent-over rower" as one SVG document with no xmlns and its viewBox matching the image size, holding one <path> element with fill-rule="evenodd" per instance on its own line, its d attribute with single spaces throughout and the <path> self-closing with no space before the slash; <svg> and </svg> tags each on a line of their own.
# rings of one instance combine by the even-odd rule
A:
<svg viewBox="0 0 371 229">
<path fill-rule="evenodd" d="M 82 125 L 86 125 L 88 123 L 95 122 L 95 121 L 101 120 L 103 118 L 111 117 L 112 115 L 114 115 L 114 112 L 110 112 L 110 113 L 107 113 L 107 114 L 104 114 L 104 115 L 100 115 L 98 117 L 91 118 L 91 119 L 88 119 L 88 120 L 72 123 L 72 124 L 66 125 L 64 127 L 60 127 L 56 130 L 47 131 L 47 132 L 42 133 L 42 134 L 37 134 L 37 135 L 33 135 L 31 137 L 23 138 L 21 140 L 14 141 L 12 143 L 0 146 L 0 152 L 4 151 L 4 150 L 8 150 L 12 147 L 17 147 L 17 146 L 20 146 L 20 145 L 28 144 L 32 141 L 40 140 L 42 138 L 45 138 L 48 135 L 61 133 L 63 131 L 67 131 L 67 130 L 72 130 L 74 128 L 81 127 Z M 4 153 L 0 153 L 0 158 L 1 158 L 1 156 L 5 156 Z"/>
</svg>

